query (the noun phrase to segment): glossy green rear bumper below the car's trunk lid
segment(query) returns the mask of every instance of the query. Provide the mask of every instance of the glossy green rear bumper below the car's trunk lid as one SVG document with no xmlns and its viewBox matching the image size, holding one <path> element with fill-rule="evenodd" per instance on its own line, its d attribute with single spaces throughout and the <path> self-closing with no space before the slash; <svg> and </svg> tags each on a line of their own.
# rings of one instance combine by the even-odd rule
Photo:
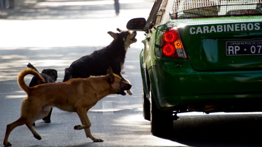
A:
<svg viewBox="0 0 262 147">
<path fill-rule="evenodd" d="M 148 73 L 159 109 L 182 110 L 207 105 L 232 107 L 255 104 L 262 99 L 262 71 L 200 72 L 191 68 L 189 62 L 158 63 L 151 66 Z"/>
</svg>

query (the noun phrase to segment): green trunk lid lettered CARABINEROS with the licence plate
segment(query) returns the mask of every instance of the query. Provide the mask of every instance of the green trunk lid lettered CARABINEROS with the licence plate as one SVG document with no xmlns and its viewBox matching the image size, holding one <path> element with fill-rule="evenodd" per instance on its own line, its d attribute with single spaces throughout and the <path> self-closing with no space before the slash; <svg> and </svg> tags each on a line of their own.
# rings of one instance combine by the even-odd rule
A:
<svg viewBox="0 0 262 147">
<path fill-rule="evenodd" d="M 173 20 L 195 70 L 262 68 L 262 17 Z"/>
</svg>

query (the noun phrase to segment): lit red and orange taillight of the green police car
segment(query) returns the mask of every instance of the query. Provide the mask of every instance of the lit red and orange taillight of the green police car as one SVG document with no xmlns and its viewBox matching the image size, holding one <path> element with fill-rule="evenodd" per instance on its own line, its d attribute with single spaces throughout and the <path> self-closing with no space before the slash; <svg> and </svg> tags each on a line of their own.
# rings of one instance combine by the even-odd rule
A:
<svg viewBox="0 0 262 147">
<path fill-rule="evenodd" d="M 162 54 L 165 57 L 187 59 L 177 28 L 172 28 L 163 34 Z"/>
</svg>

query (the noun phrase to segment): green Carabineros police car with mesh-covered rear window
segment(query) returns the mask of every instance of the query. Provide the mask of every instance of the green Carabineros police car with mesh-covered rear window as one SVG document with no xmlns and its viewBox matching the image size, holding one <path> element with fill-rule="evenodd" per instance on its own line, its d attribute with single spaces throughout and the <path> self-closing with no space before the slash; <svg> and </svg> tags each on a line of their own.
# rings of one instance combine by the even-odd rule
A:
<svg viewBox="0 0 262 147">
<path fill-rule="evenodd" d="M 262 1 L 156 0 L 140 54 L 143 116 L 167 133 L 182 112 L 261 112 Z"/>
</svg>

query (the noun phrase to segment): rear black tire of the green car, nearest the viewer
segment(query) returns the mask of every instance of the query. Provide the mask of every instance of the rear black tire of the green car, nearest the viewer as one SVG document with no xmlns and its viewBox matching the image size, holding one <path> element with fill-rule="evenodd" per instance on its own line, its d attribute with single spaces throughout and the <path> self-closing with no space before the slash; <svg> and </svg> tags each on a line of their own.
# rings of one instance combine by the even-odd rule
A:
<svg viewBox="0 0 262 147">
<path fill-rule="evenodd" d="M 151 121 L 151 133 L 153 135 L 168 135 L 173 132 L 172 112 L 160 111 L 157 108 L 151 88 L 150 88 L 150 121 Z"/>
</svg>

